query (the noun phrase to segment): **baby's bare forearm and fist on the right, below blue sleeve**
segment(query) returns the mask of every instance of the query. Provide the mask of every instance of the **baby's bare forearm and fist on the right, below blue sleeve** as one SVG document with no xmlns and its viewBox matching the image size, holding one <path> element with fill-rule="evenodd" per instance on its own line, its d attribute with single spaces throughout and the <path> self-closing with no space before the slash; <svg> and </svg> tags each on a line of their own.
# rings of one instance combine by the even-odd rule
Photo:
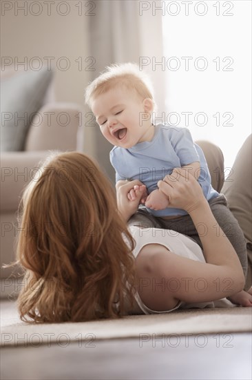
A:
<svg viewBox="0 0 252 380">
<path fill-rule="evenodd" d="M 198 180 L 200 176 L 199 161 L 191 162 L 191 164 L 185 165 L 181 169 L 185 169 L 185 171 L 188 171 L 191 175 L 193 175 L 194 178 L 196 178 L 196 180 Z M 153 210 L 162 210 L 169 207 L 169 200 L 167 196 L 165 196 L 165 194 L 162 193 L 162 191 L 156 189 L 154 191 L 151 191 L 151 193 L 147 197 L 145 201 L 145 206 Z"/>
</svg>

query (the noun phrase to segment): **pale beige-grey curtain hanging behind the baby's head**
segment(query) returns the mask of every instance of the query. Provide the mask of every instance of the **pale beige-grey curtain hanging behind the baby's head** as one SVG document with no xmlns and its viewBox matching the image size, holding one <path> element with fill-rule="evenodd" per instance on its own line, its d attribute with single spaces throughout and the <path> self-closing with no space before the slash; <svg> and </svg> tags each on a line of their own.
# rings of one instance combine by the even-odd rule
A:
<svg viewBox="0 0 252 380">
<path fill-rule="evenodd" d="M 94 71 L 90 81 L 115 63 L 135 62 L 146 70 L 154 85 L 158 108 L 165 107 L 165 89 L 162 72 L 153 66 L 162 56 L 162 15 L 152 15 L 143 9 L 143 1 L 92 1 L 94 16 L 89 16 L 90 56 L 94 57 Z M 98 125 L 85 128 L 92 133 L 94 158 L 114 182 L 114 169 L 109 162 L 112 145 L 101 135 Z"/>
</svg>

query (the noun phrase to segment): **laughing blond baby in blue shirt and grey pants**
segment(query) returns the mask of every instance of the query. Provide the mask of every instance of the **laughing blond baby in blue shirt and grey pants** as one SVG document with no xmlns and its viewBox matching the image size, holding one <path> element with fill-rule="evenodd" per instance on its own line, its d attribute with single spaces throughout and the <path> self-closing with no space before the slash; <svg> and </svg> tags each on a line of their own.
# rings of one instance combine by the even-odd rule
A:
<svg viewBox="0 0 252 380">
<path fill-rule="evenodd" d="M 158 189 L 158 181 L 175 168 L 187 170 L 200 183 L 213 215 L 240 258 L 246 276 L 244 235 L 227 207 L 224 195 L 211 186 L 202 149 L 193 143 L 188 129 L 154 125 L 151 120 L 156 106 L 149 78 L 138 70 L 136 64 L 109 66 L 87 86 L 85 100 L 101 133 L 114 145 L 110 161 L 116 170 L 116 182 L 140 180 L 146 186 L 136 221 L 150 220 L 155 227 L 178 231 L 201 245 L 188 213 L 169 207 L 169 198 Z M 129 192 L 129 199 L 134 199 L 137 188 L 133 187 Z"/>
</svg>

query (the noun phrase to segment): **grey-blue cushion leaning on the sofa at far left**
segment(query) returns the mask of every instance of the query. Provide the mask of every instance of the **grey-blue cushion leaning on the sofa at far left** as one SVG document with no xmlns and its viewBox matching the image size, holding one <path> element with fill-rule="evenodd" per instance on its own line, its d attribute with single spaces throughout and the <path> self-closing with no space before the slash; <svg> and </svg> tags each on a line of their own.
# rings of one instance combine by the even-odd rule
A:
<svg viewBox="0 0 252 380">
<path fill-rule="evenodd" d="M 39 111 L 52 71 L 28 70 L 1 81 L 1 151 L 22 151 L 32 117 Z"/>
</svg>

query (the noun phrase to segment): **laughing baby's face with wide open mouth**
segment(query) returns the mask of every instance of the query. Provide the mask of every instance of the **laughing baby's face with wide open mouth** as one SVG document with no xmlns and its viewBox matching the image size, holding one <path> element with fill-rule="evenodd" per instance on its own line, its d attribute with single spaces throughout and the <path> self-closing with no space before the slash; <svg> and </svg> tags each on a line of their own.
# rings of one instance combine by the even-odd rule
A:
<svg viewBox="0 0 252 380">
<path fill-rule="evenodd" d="M 112 88 L 92 103 L 103 136 L 113 145 L 131 148 L 149 139 L 151 120 L 145 100 L 127 88 Z"/>
</svg>

